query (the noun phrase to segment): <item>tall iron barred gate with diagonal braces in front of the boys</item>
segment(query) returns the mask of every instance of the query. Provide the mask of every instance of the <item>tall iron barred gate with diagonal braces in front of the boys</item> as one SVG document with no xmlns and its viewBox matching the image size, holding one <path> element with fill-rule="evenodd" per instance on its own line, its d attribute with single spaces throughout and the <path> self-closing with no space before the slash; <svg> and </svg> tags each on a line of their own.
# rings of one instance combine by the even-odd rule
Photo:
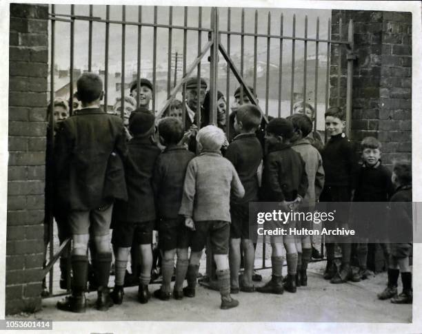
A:
<svg viewBox="0 0 422 334">
<path fill-rule="evenodd" d="M 100 6 L 95 6 L 95 8 Z M 121 8 L 121 20 L 116 19 L 110 19 L 110 9 L 115 8 Z M 126 10 L 130 7 L 131 11 L 137 10 L 137 20 L 136 21 L 128 21 L 126 19 Z M 203 63 L 201 62 L 205 56 L 208 56 L 209 61 L 209 83 L 210 83 L 210 121 L 212 124 L 217 124 L 217 112 L 216 112 L 216 105 L 217 105 L 217 85 L 219 85 L 219 74 L 223 74 L 225 76 L 225 96 L 228 99 L 229 102 L 229 96 L 230 92 L 232 92 L 232 86 L 230 82 L 230 76 L 234 75 L 234 78 L 239 83 L 241 87 L 241 96 L 243 96 L 242 91 L 250 98 L 250 101 L 254 105 L 257 105 L 259 107 L 259 103 L 257 101 L 257 98 L 255 98 L 254 94 L 250 91 L 248 88 L 248 83 L 245 81 L 245 39 L 253 39 L 253 61 L 250 62 L 250 67 L 252 67 L 252 84 L 249 83 L 254 89 L 254 92 L 257 92 L 257 88 L 261 88 L 261 83 L 259 83 L 259 75 L 258 75 L 258 66 L 259 63 L 259 51 L 258 51 L 258 42 L 260 39 L 264 39 L 266 41 L 266 48 L 264 48 L 266 52 L 266 60 L 265 60 L 265 109 L 261 109 L 261 113 L 263 114 L 263 118 L 265 121 L 268 121 L 268 116 L 270 112 L 274 114 L 274 116 L 281 116 L 285 112 L 285 107 L 283 109 L 282 106 L 282 94 L 283 94 L 283 87 L 285 87 L 284 83 L 286 80 L 286 77 L 290 80 L 290 105 L 288 106 L 288 111 L 290 111 L 290 114 L 293 112 L 293 104 L 295 101 L 295 82 L 297 81 L 297 72 L 298 71 L 298 60 L 299 56 L 303 56 L 303 73 L 302 73 L 302 83 L 303 87 L 301 87 L 301 96 L 300 99 L 303 101 L 303 103 L 310 103 L 310 98 L 307 96 L 308 92 L 308 62 L 310 62 L 310 57 L 308 55 L 308 50 L 310 45 L 313 45 L 314 47 L 314 68 L 312 68 L 312 72 L 314 74 L 314 83 L 313 83 L 313 90 L 314 90 L 314 98 L 313 98 L 313 105 L 314 105 L 314 129 L 317 129 L 317 120 L 319 120 L 318 110 L 319 109 L 327 109 L 329 105 L 329 95 L 330 95 L 330 78 L 334 78 L 331 82 L 332 85 L 336 85 L 336 104 L 340 105 L 341 103 L 341 79 L 345 77 L 347 81 L 347 92 L 346 92 L 346 105 L 345 105 L 345 111 L 346 111 L 346 124 L 348 125 L 346 129 L 346 134 L 350 133 L 350 115 L 351 115 L 351 101 L 352 101 L 352 72 L 353 72 L 353 23 L 352 21 L 348 22 L 348 39 L 342 40 L 341 37 L 343 36 L 343 23 L 339 21 L 339 40 L 332 40 L 331 39 L 331 21 L 328 19 L 327 23 L 327 37 L 325 39 L 320 38 L 320 22 L 319 18 L 316 19 L 316 25 L 314 27 L 315 35 L 314 37 L 308 36 L 308 16 L 305 17 L 304 21 L 304 35 L 303 36 L 297 36 L 296 30 L 297 30 L 297 20 L 296 15 L 293 15 L 292 18 L 292 34 L 291 36 L 286 36 L 283 34 L 283 14 L 281 13 L 279 19 L 279 27 L 280 30 L 278 32 L 272 32 L 271 27 L 272 23 L 274 23 L 274 18 L 272 18 L 272 12 L 268 12 L 265 20 L 267 21 L 267 32 L 261 33 L 258 30 L 259 26 L 259 10 L 254 11 L 254 32 L 246 32 L 245 28 L 245 9 L 241 10 L 241 31 L 232 30 L 232 9 L 222 9 L 222 8 L 183 8 L 183 25 L 177 25 L 174 24 L 174 9 L 173 7 L 165 8 L 165 10 L 168 10 L 168 23 L 158 23 L 158 14 L 159 10 L 163 10 L 163 8 L 159 8 L 157 6 L 154 6 L 153 8 L 153 23 L 148 23 L 143 20 L 143 8 L 146 6 L 106 6 L 106 15 L 105 18 L 102 17 L 96 17 L 94 16 L 94 6 L 90 5 L 89 9 L 86 13 L 86 15 L 80 15 L 75 14 L 75 5 L 70 6 L 70 12 L 67 13 L 59 13 L 56 12 L 56 6 L 51 5 L 50 6 L 50 101 L 54 101 L 55 97 L 55 90 L 57 87 L 54 85 L 54 74 L 57 72 L 57 69 L 55 67 L 56 64 L 56 58 L 55 58 L 55 48 L 56 48 L 56 25 L 57 23 L 68 23 L 70 25 L 70 54 L 69 54 L 69 87 L 68 92 L 69 96 L 72 96 L 74 92 L 74 81 L 75 81 L 75 65 L 74 65 L 74 45 L 75 45 L 75 38 L 81 37 L 77 36 L 74 32 L 75 25 L 77 23 L 86 22 L 88 23 L 88 61 L 86 63 L 88 72 L 92 72 L 93 70 L 93 43 L 94 43 L 94 23 L 101 23 L 105 27 L 105 34 L 104 35 L 98 35 L 96 34 L 96 39 L 99 38 L 101 40 L 104 40 L 105 48 L 104 48 L 104 59 L 103 59 L 103 69 L 99 70 L 99 73 L 103 75 L 104 78 L 104 87 L 105 87 L 105 96 L 104 96 L 104 104 L 103 107 L 107 111 L 108 109 L 108 103 L 110 102 L 110 90 L 109 88 L 109 79 L 110 79 L 110 25 L 120 25 L 121 26 L 121 81 L 120 81 L 120 96 L 125 96 L 125 88 L 127 87 L 127 83 L 125 82 L 125 48 L 126 48 L 126 28 L 128 27 L 136 27 L 137 28 L 137 70 L 136 70 L 136 81 L 137 81 L 137 92 L 139 92 L 139 83 L 141 79 L 141 70 L 142 70 L 142 63 L 144 59 L 141 58 L 142 50 L 141 45 L 142 41 L 145 38 L 145 36 L 148 36 L 148 34 L 145 34 L 143 30 L 146 28 L 152 29 L 152 85 L 154 87 L 153 92 L 153 98 L 152 98 L 152 110 L 157 110 L 157 36 L 158 36 L 158 30 L 167 30 L 168 31 L 168 40 L 167 40 L 167 46 L 168 46 L 168 57 L 167 57 L 167 83 L 165 87 L 166 92 L 166 98 L 165 101 L 161 104 L 161 107 L 159 108 L 157 112 L 157 116 L 161 116 L 165 109 L 170 105 L 170 102 L 173 98 L 178 94 L 178 92 L 182 91 L 183 96 L 185 96 L 185 83 L 186 81 L 194 75 L 194 72 L 196 70 L 196 76 L 197 81 L 199 83 L 199 80 L 201 78 Z M 203 21 L 205 21 L 203 12 L 207 10 L 210 11 L 210 23 L 208 26 L 203 25 Z M 223 28 L 223 24 L 221 23 L 221 11 L 226 10 L 225 12 L 225 25 Z M 190 16 L 196 16 L 198 17 L 197 25 L 188 25 L 188 17 Z M 274 15 L 273 15 L 274 16 Z M 174 49 L 174 42 L 172 39 L 172 36 L 175 31 L 181 31 L 183 32 L 183 39 L 182 39 L 182 47 L 183 47 L 183 59 L 182 62 L 182 76 L 179 82 L 177 81 L 177 68 L 174 68 L 174 81 L 172 83 L 172 50 Z M 188 32 L 196 32 L 197 34 L 197 50 L 196 50 L 196 56 L 194 56 L 194 60 L 188 63 L 187 60 L 187 52 L 188 52 L 188 43 L 191 40 L 188 40 Z M 205 36 L 204 36 L 205 34 Z M 235 37 L 240 37 L 240 59 L 239 61 L 234 61 L 234 58 L 232 56 L 232 41 Z M 223 43 L 222 39 L 225 39 L 225 43 Z M 272 52 L 274 52 L 274 48 L 271 48 L 271 45 L 279 45 L 279 48 L 277 50 L 278 52 L 278 63 L 274 65 L 274 63 L 271 63 L 270 55 Z M 288 43 L 291 43 L 291 56 L 290 56 L 290 75 L 286 75 L 286 70 L 283 70 L 283 63 L 285 63 L 285 53 L 286 53 L 286 46 Z M 303 54 L 297 55 L 296 49 L 297 44 L 303 43 Z M 324 49 L 321 48 L 321 45 L 325 47 Z M 336 50 L 336 67 L 332 66 L 332 49 Z M 321 76 L 319 76 L 319 72 L 321 72 L 321 66 L 319 65 L 319 59 L 321 57 L 320 50 L 326 50 L 326 66 L 323 68 L 323 77 L 325 77 L 325 87 L 323 87 L 324 90 L 324 101 L 323 105 L 319 107 L 318 103 L 318 92 L 321 91 L 321 87 L 319 87 L 319 78 L 321 79 Z M 223 57 L 226 65 L 226 69 L 222 70 L 219 68 L 219 54 Z M 179 54 L 180 56 L 180 54 Z M 180 61 L 179 56 L 176 56 L 176 61 Z M 239 58 L 239 57 L 238 57 Z M 344 61 L 343 59 L 346 59 L 348 62 L 348 70 L 347 75 L 342 74 L 341 72 L 341 62 Z M 149 59 L 148 59 L 149 61 Z M 240 64 L 239 64 L 240 62 Z M 238 64 L 240 65 L 240 68 L 238 68 Z M 112 64 L 113 65 L 113 64 Z M 270 66 L 272 67 L 278 67 L 278 70 L 275 72 L 270 70 Z M 331 71 L 330 71 L 331 68 Z M 277 114 L 273 112 L 273 109 L 270 108 L 270 74 L 272 74 L 272 77 L 274 75 L 276 76 L 277 81 L 277 96 L 275 98 L 276 101 L 276 107 L 277 108 Z M 257 86 L 259 85 L 259 87 Z M 61 88 L 61 87 L 59 87 Z M 199 94 L 199 85 L 198 85 L 198 92 Z M 274 94 L 273 94 L 274 95 Z M 274 97 L 274 96 L 273 96 Z M 311 102 L 312 103 L 312 102 Z M 229 104 L 229 103 L 228 103 Z M 121 99 L 121 117 L 123 118 L 123 112 L 124 112 L 124 105 L 125 100 L 124 98 Z M 137 105 L 139 105 L 139 98 L 137 98 Z M 197 115 L 199 116 L 197 118 L 197 125 L 199 127 L 201 123 L 200 115 L 201 112 L 199 111 L 200 105 L 197 105 Z M 186 117 L 186 110 L 185 110 L 185 103 L 182 103 L 182 122 L 184 124 L 185 117 Z M 73 106 L 72 103 L 70 103 L 70 114 L 73 112 Z M 226 120 L 229 119 L 229 106 L 226 107 Z M 51 117 L 49 119 L 50 126 L 54 127 L 54 118 L 51 113 Z M 226 131 L 228 132 L 229 127 L 227 127 Z M 52 145 L 54 145 L 54 135 L 51 134 L 51 140 Z M 52 184 L 50 182 L 50 187 L 52 187 Z M 50 191 L 51 194 L 51 191 Z M 49 200 L 52 202 L 52 198 L 47 198 L 46 200 Z M 50 273 L 49 277 L 49 291 L 50 295 L 53 295 L 53 266 L 54 262 L 57 261 L 59 258 L 59 255 L 64 251 L 70 251 L 70 240 L 66 240 L 66 242 L 63 242 L 56 253 L 54 253 L 54 236 L 53 236 L 53 216 L 52 212 L 46 213 L 48 215 L 48 221 L 50 225 L 50 261 L 46 265 L 44 269 L 44 274 L 47 275 Z M 323 248 L 322 248 L 323 249 Z M 207 262 L 207 272 L 210 273 L 210 261 Z M 68 264 L 68 267 L 70 267 L 70 264 Z M 263 262 L 262 262 L 262 268 L 265 267 L 265 242 L 263 242 Z M 70 282 L 70 280 L 68 280 Z M 69 285 L 69 284 L 68 284 Z M 70 286 L 68 286 L 70 288 Z"/>
</svg>

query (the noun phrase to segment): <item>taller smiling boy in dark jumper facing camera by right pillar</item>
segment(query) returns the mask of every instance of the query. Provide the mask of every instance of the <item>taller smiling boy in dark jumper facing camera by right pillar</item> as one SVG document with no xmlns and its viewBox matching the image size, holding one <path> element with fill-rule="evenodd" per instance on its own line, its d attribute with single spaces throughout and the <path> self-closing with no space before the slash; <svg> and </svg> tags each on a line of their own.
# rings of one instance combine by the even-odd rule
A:
<svg viewBox="0 0 422 334">
<path fill-rule="evenodd" d="M 343 133 L 345 128 L 345 113 L 339 107 L 332 107 L 325 112 L 325 131 L 330 140 L 325 144 L 321 156 L 325 171 L 325 185 L 319 200 L 321 202 L 336 202 L 332 210 L 336 210 L 336 224 L 339 228 L 348 229 L 348 213 L 350 200 L 356 183 L 356 171 L 359 168 L 354 148 L 350 140 Z M 339 205 L 339 202 L 345 202 Z M 343 283 L 350 279 L 359 281 L 359 277 L 352 278 L 350 267 L 350 253 L 352 244 L 350 236 L 342 236 L 341 241 L 341 269 L 336 271 L 334 264 L 334 240 L 325 239 L 327 249 L 327 267 L 325 280 L 331 283 Z"/>
</svg>

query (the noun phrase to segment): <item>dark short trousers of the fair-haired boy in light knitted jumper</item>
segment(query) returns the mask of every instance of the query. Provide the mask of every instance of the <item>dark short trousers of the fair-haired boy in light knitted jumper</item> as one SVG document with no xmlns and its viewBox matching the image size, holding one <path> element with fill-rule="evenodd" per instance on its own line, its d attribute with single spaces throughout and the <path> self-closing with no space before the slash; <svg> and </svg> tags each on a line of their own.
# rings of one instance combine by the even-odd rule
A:
<svg viewBox="0 0 422 334">
<path fill-rule="evenodd" d="M 190 242 L 191 251 L 202 251 L 210 236 L 211 251 L 214 254 L 228 254 L 230 222 L 223 220 L 205 220 L 195 222 L 195 231 Z"/>
</svg>

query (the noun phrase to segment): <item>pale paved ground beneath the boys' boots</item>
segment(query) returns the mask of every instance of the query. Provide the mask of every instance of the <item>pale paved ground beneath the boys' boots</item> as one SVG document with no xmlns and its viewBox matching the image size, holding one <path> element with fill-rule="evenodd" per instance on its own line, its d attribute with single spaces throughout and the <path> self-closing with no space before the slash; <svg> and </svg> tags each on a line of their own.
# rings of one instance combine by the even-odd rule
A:
<svg viewBox="0 0 422 334">
<path fill-rule="evenodd" d="M 90 293 L 90 307 L 86 313 L 59 311 L 55 308 L 59 298 L 47 298 L 43 300 L 43 309 L 28 317 L 56 321 L 412 322 L 412 305 L 394 305 L 376 299 L 376 293 L 385 286 L 385 273 L 363 282 L 330 284 L 322 278 L 324 265 L 325 262 L 310 264 L 308 286 L 301 287 L 297 293 L 239 293 L 235 295 L 240 302 L 239 307 L 228 311 L 219 309 L 217 291 L 202 286 L 198 287 L 196 298 L 169 302 L 152 298 L 144 305 L 137 302 L 137 287 L 132 287 L 125 289 L 123 304 L 113 306 L 108 312 L 94 309 L 96 293 Z M 260 273 L 265 281 L 270 276 L 270 269 Z M 151 291 L 158 288 L 159 284 L 150 286 Z"/>
</svg>

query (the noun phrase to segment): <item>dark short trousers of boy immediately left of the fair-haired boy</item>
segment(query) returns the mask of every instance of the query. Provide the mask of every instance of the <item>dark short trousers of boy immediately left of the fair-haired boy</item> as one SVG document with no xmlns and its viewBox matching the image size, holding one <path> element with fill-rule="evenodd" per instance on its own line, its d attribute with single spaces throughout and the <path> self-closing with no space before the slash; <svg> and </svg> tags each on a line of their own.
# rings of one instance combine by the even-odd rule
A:
<svg viewBox="0 0 422 334">
<path fill-rule="evenodd" d="M 188 248 L 192 231 L 185 227 L 185 218 L 161 218 L 158 223 L 159 249 L 170 251 Z"/>
</svg>

